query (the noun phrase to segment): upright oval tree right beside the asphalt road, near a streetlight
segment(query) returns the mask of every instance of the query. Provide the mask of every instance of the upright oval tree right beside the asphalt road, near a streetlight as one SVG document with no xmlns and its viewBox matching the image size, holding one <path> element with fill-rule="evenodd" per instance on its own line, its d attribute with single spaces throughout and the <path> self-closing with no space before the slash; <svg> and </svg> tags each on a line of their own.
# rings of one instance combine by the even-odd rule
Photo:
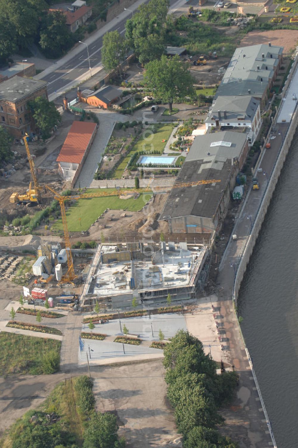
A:
<svg viewBox="0 0 298 448">
<path fill-rule="evenodd" d="M 121 76 L 121 63 L 125 59 L 125 52 L 125 39 L 117 30 L 104 34 L 101 60 L 107 72 L 116 70 Z"/>
</svg>

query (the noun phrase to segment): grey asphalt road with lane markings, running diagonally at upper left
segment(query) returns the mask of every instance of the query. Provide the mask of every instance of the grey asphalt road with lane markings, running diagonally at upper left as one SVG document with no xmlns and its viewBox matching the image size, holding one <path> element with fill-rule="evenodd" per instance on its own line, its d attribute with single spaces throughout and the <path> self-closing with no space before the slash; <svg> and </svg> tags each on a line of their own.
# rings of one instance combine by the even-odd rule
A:
<svg viewBox="0 0 298 448">
<path fill-rule="evenodd" d="M 144 3 L 147 3 L 145 1 Z M 173 6 L 177 3 L 177 0 L 170 0 L 170 6 Z M 180 3 L 180 2 L 179 2 Z M 127 21 L 122 19 L 116 25 L 111 26 L 109 31 L 118 30 L 120 34 L 125 33 L 125 23 Z M 90 66 L 91 69 L 93 67 L 99 66 L 101 63 L 101 48 L 103 45 L 103 36 L 96 39 L 93 43 L 89 44 L 89 57 L 90 57 Z M 80 44 L 77 47 L 76 55 L 65 62 L 64 65 L 60 65 L 55 69 L 55 65 L 53 65 L 53 71 L 48 73 L 42 79 L 43 81 L 48 82 L 48 95 L 54 94 L 56 91 L 63 89 L 63 87 L 67 86 L 70 82 L 75 81 L 84 73 L 89 71 L 89 62 L 88 62 L 88 54 L 86 45 Z"/>
</svg>

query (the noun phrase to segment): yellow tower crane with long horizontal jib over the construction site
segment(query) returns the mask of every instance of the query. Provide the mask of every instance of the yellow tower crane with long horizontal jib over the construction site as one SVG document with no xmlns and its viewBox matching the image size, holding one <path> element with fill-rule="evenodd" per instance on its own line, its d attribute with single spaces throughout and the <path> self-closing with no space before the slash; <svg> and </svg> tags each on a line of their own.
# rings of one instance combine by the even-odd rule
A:
<svg viewBox="0 0 298 448">
<path fill-rule="evenodd" d="M 210 179 L 207 181 L 196 181 L 196 182 L 178 182 L 177 184 L 173 185 L 172 187 L 164 187 L 164 186 L 158 186 L 154 187 L 154 190 L 157 191 L 165 191 L 167 188 L 184 188 L 184 187 L 193 187 L 196 185 L 207 185 L 207 184 L 213 184 L 220 182 L 218 179 Z M 102 198 L 105 196 L 120 196 L 125 194 L 142 194 L 150 191 L 150 182 L 147 186 L 147 188 L 139 188 L 138 190 L 130 189 L 130 190 L 120 190 L 120 188 L 116 188 L 116 190 L 113 190 L 111 192 L 98 192 L 98 193 L 83 193 L 83 194 L 73 194 L 71 196 L 61 196 L 61 194 L 57 193 L 55 190 L 52 189 L 49 185 L 46 185 L 46 189 L 50 190 L 54 194 L 54 199 L 59 202 L 60 209 L 61 209 L 61 217 L 62 217 L 62 225 L 63 225 L 63 232 L 64 232 L 64 242 L 65 242 L 65 250 L 67 255 L 67 272 L 64 276 L 62 276 L 60 283 L 72 283 L 72 281 L 77 277 L 74 268 L 73 268 L 73 255 L 71 253 L 71 247 L 70 247 L 70 240 L 69 240 L 69 231 L 67 226 L 67 219 L 66 219 L 66 212 L 65 212 L 65 202 L 66 201 L 72 201 L 72 200 L 78 200 L 78 199 L 86 199 L 86 198 Z"/>
</svg>

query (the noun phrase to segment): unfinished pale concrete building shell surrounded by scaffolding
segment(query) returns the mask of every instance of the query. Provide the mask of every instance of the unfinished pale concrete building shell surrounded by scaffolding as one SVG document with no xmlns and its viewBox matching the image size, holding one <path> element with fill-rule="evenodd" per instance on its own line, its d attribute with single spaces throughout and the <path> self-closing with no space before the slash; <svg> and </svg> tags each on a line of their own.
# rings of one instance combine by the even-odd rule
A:
<svg viewBox="0 0 298 448">
<path fill-rule="evenodd" d="M 184 242 L 99 245 L 85 272 L 82 310 L 92 310 L 96 301 L 102 309 L 117 309 L 131 307 L 134 297 L 144 305 L 168 294 L 172 301 L 194 298 L 203 289 L 209 260 L 207 246 Z"/>
</svg>

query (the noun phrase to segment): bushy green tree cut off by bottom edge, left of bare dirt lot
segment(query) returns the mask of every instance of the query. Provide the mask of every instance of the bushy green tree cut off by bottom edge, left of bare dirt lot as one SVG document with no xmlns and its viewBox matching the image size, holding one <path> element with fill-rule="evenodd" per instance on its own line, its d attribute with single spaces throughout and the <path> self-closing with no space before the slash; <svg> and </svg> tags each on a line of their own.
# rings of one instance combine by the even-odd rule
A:
<svg viewBox="0 0 298 448">
<path fill-rule="evenodd" d="M 125 440 L 117 435 L 117 418 L 113 414 L 91 414 L 84 431 L 83 448 L 124 448 Z"/>
</svg>

